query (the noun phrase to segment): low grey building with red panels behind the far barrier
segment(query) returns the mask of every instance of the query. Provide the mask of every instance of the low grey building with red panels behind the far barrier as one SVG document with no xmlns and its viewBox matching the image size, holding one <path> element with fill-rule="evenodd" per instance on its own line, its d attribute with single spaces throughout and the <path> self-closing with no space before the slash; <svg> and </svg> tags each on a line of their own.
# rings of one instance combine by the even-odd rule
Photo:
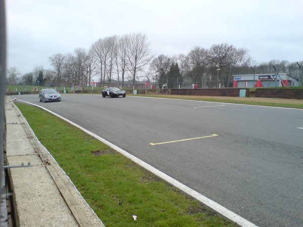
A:
<svg viewBox="0 0 303 227">
<path fill-rule="evenodd" d="M 277 83 L 277 85 L 276 85 Z M 299 80 L 286 73 L 278 74 L 277 82 L 275 74 L 250 74 L 233 75 L 234 88 L 252 88 L 252 87 L 297 87 Z"/>
</svg>

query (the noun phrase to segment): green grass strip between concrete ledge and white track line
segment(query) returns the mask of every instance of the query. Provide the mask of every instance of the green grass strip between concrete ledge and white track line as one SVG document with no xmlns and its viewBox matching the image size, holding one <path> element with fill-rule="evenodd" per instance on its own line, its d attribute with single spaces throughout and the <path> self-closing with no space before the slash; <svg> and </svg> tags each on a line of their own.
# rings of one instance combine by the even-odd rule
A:
<svg viewBox="0 0 303 227">
<path fill-rule="evenodd" d="M 15 104 L 106 226 L 236 226 L 60 118 Z"/>
</svg>

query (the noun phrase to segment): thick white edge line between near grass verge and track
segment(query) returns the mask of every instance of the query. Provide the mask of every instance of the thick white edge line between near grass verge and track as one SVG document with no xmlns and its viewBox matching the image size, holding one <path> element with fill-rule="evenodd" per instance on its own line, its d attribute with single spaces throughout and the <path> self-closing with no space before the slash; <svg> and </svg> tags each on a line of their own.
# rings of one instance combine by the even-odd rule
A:
<svg viewBox="0 0 303 227">
<path fill-rule="evenodd" d="M 181 99 L 183 100 L 183 99 Z M 18 100 L 21 101 L 21 100 Z M 192 190 L 191 188 L 187 187 L 186 185 L 178 182 L 177 180 L 173 179 L 172 177 L 166 175 L 165 173 L 159 171 L 158 169 L 156 169 L 155 167 L 147 164 L 146 162 L 142 161 L 141 159 L 135 157 L 134 155 L 126 152 L 125 150 L 121 149 L 120 147 L 112 144 L 111 142 L 95 135 L 94 133 L 84 129 L 83 127 L 77 125 L 76 123 L 58 115 L 57 113 L 48 110 L 42 106 L 27 102 L 27 101 L 22 101 L 34 106 L 37 106 L 39 108 L 42 108 L 50 113 L 52 113 L 53 115 L 57 116 L 58 118 L 61 118 L 62 120 L 70 123 L 71 125 L 81 129 L 82 131 L 86 132 L 87 134 L 91 135 L 92 137 L 98 139 L 99 141 L 105 143 L 106 145 L 110 146 L 111 148 L 115 149 L 116 151 L 118 151 L 119 153 L 121 153 L 122 155 L 124 155 L 125 157 L 131 159 L 132 161 L 134 161 L 135 163 L 139 164 L 140 166 L 144 167 L 145 169 L 147 169 L 148 171 L 150 171 L 151 173 L 157 175 L 158 177 L 162 178 L 163 180 L 165 180 L 166 182 L 172 184 L 173 186 L 177 187 L 178 189 L 180 189 L 181 191 L 185 192 L 186 194 L 192 196 L 193 198 L 197 199 L 198 201 L 204 203 L 205 205 L 207 205 L 208 207 L 210 207 L 211 209 L 217 211 L 218 213 L 220 213 L 221 215 L 225 216 L 226 218 L 236 222 L 237 224 L 243 226 L 243 227 L 255 227 L 257 225 L 255 225 L 254 223 L 246 220 L 245 218 L 241 217 L 240 215 L 232 212 L 231 210 L 221 206 L 220 204 L 216 203 L 215 201 L 207 198 L 204 195 L 201 195 L 200 193 Z"/>
</svg>

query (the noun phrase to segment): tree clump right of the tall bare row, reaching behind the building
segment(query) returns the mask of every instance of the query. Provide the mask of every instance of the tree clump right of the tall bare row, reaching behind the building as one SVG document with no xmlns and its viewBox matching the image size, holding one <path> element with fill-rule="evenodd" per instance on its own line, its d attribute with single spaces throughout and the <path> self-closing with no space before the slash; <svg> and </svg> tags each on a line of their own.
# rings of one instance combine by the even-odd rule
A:
<svg viewBox="0 0 303 227">
<path fill-rule="evenodd" d="M 288 73 L 299 78 L 301 71 L 297 63 L 272 60 L 257 64 L 246 48 L 236 48 L 228 43 L 213 44 L 209 49 L 193 47 L 186 55 L 177 54 L 170 57 L 160 54 L 150 63 L 149 76 L 159 87 L 178 88 L 180 83 L 206 84 L 207 87 L 232 87 L 233 75 Z M 302 65 L 302 61 L 300 65 Z M 164 86 L 163 86 L 164 85 Z"/>
</svg>

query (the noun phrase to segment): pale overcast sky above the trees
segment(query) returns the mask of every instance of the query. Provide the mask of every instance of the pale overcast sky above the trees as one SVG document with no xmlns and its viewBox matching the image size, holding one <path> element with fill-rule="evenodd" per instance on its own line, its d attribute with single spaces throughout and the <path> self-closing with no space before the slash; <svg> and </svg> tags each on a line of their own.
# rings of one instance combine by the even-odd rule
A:
<svg viewBox="0 0 303 227">
<path fill-rule="evenodd" d="M 129 33 L 146 34 L 156 56 L 227 42 L 257 63 L 303 61 L 302 0 L 7 0 L 6 14 L 7 68 L 21 74 Z"/>
</svg>

